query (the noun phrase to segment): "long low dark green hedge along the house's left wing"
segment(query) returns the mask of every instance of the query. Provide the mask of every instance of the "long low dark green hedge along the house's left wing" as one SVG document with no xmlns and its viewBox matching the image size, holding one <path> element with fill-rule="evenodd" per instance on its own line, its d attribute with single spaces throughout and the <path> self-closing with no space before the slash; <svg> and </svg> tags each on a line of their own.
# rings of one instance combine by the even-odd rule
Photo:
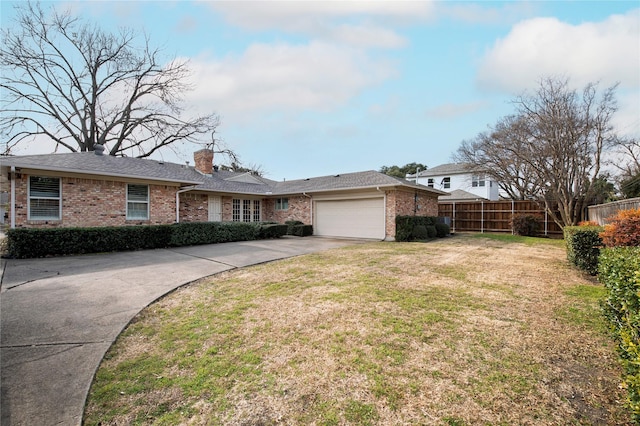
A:
<svg viewBox="0 0 640 426">
<path fill-rule="evenodd" d="M 178 223 L 96 228 L 14 228 L 7 256 L 33 258 L 251 241 L 285 235 L 287 225 L 243 222 Z"/>
</svg>

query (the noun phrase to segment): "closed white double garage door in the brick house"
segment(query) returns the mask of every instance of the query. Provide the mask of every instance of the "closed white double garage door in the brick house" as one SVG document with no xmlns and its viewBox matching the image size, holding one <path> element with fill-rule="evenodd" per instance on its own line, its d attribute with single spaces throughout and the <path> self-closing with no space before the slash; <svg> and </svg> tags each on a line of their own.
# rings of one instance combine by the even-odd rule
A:
<svg viewBox="0 0 640 426">
<path fill-rule="evenodd" d="M 384 198 L 317 201 L 314 234 L 384 239 Z"/>
</svg>

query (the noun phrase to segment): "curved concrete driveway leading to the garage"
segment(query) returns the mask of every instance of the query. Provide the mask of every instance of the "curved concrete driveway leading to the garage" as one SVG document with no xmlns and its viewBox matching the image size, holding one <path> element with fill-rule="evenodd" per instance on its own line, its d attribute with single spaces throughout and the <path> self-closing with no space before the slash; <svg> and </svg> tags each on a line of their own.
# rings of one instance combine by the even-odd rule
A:
<svg viewBox="0 0 640 426">
<path fill-rule="evenodd" d="M 354 244 L 287 237 L 48 259 L 3 259 L 0 418 L 79 425 L 107 349 L 144 307 L 222 271 Z"/>
</svg>

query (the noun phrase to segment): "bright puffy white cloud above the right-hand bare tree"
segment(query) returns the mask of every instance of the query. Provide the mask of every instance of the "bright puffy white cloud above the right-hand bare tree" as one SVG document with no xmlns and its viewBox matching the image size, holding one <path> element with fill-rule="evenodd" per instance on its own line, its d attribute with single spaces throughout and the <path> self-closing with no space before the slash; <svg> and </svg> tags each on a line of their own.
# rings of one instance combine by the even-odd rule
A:
<svg viewBox="0 0 640 426">
<path fill-rule="evenodd" d="M 640 87 L 640 9 L 602 22 L 570 25 L 556 18 L 515 25 L 483 58 L 478 84 L 519 93 L 544 76 L 566 76 L 572 85 L 620 82 Z"/>
</svg>

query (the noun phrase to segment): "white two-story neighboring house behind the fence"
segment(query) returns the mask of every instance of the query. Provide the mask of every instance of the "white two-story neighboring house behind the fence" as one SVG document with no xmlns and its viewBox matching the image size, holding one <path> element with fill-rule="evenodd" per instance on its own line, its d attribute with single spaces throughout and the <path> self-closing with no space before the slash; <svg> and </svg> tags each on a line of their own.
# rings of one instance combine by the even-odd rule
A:
<svg viewBox="0 0 640 426">
<path fill-rule="evenodd" d="M 482 171 L 474 171 L 466 164 L 441 164 L 431 169 L 408 174 L 405 179 L 430 188 L 449 192 L 438 201 L 473 201 L 500 199 L 498 183 Z"/>
</svg>

